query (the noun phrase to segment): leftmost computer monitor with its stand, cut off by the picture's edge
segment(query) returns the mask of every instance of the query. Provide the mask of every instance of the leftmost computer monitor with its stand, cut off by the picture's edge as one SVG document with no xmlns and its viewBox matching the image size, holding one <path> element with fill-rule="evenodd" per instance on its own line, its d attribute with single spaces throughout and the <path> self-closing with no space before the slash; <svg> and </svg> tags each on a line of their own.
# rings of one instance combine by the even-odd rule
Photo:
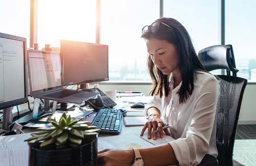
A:
<svg viewBox="0 0 256 166">
<path fill-rule="evenodd" d="M 26 38 L 0 33 L 0 109 L 3 129 L 12 122 L 11 107 L 28 101 Z"/>
</svg>

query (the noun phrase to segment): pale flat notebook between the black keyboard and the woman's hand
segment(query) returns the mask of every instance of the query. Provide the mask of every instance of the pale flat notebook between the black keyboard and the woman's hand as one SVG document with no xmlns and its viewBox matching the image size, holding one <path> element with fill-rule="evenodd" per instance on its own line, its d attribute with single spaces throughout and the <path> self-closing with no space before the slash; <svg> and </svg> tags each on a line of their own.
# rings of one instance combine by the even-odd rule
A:
<svg viewBox="0 0 256 166">
<path fill-rule="evenodd" d="M 147 122 L 146 117 L 124 117 L 124 126 L 144 126 Z"/>
</svg>

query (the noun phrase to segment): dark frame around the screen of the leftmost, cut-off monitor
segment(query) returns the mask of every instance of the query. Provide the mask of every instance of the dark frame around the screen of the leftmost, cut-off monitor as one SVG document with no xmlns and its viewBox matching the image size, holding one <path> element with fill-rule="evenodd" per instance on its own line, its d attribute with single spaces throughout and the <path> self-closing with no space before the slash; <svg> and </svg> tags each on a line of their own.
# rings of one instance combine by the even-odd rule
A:
<svg viewBox="0 0 256 166">
<path fill-rule="evenodd" d="M 0 33 L 0 38 L 22 41 L 23 42 L 23 51 L 24 51 L 23 64 L 24 64 L 24 72 L 25 72 L 24 73 L 24 82 L 25 82 L 25 84 L 24 84 L 25 93 L 24 94 L 25 94 L 25 96 L 23 98 L 0 103 L 0 109 L 5 109 L 8 107 L 12 107 L 15 105 L 19 105 L 19 104 L 28 102 L 27 39 L 23 38 L 23 37 L 19 37 L 19 36 L 4 34 L 4 33 Z"/>
</svg>

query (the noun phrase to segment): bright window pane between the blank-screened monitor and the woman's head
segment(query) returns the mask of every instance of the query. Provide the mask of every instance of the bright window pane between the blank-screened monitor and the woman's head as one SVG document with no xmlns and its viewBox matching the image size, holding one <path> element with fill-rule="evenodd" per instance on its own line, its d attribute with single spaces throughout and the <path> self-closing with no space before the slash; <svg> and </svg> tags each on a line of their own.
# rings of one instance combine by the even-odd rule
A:
<svg viewBox="0 0 256 166">
<path fill-rule="evenodd" d="M 102 0 L 101 43 L 109 45 L 110 80 L 151 80 L 141 29 L 159 18 L 156 0 Z"/>
</svg>

